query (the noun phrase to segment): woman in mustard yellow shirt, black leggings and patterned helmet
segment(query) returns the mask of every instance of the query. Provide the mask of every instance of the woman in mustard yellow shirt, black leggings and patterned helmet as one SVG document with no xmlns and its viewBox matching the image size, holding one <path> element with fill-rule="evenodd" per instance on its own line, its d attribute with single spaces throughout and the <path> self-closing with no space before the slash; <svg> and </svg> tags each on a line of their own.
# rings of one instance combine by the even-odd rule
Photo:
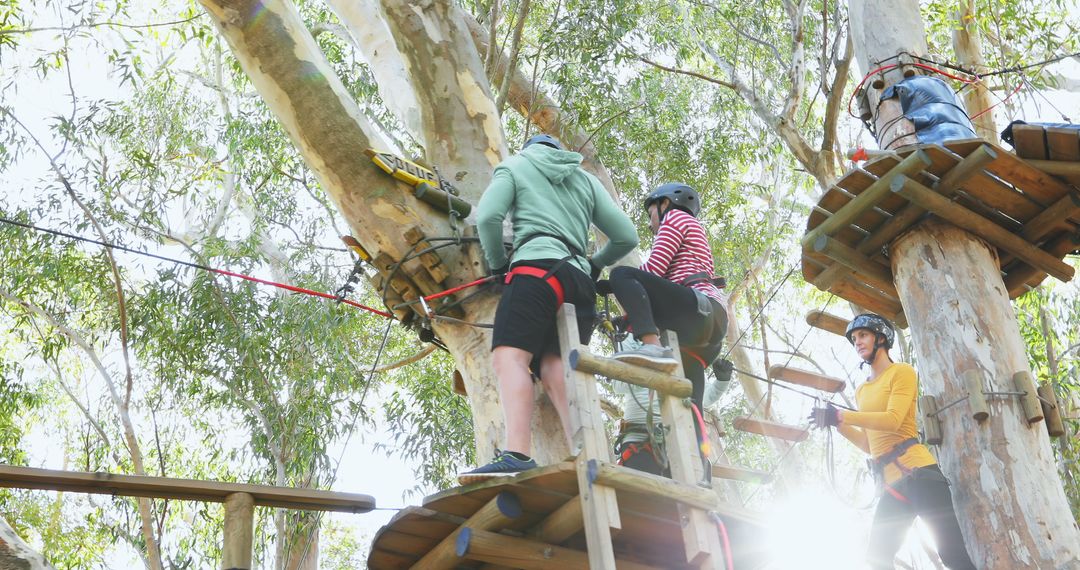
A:
<svg viewBox="0 0 1080 570">
<path fill-rule="evenodd" d="M 896 337 L 892 324 L 876 314 L 861 314 L 848 324 L 846 336 L 870 366 L 869 379 L 855 390 L 859 411 L 828 405 L 814 408 L 810 420 L 819 428 L 837 428 L 873 458 L 874 476 L 885 492 L 870 528 L 870 566 L 894 568 L 896 551 L 918 516 L 930 527 L 946 567 L 974 569 L 953 508 L 948 480 L 917 438 L 915 401 L 919 385 L 915 369 L 889 357 Z"/>
</svg>

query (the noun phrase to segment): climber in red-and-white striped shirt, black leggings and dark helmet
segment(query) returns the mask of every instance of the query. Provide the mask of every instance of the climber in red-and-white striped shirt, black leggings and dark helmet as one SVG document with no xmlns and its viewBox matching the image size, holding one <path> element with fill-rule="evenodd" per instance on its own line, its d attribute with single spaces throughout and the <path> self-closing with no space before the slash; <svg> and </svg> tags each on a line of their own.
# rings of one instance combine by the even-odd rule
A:
<svg viewBox="0 0 1080 570">
<path fill-rule="evenodd" d="M 678 334 L 683 367 L 701 409 L 705 368 L 720 353 L 728 327 L 726 299 L 713 283 L 713 252 L 697 216 L 698 192 L 685 184 L 657 187 L 645 199 L 649 229 L 656 235 L 640 268 L 617 267 L 608 284 L 625 312 L 630 330 L 642 347 L 612 357 L 631 364 L 673 370 L 671 349 L 660 344 L 660 328 Z M 602 286 L 603 288 L 603 286 Z"/>
</svg>

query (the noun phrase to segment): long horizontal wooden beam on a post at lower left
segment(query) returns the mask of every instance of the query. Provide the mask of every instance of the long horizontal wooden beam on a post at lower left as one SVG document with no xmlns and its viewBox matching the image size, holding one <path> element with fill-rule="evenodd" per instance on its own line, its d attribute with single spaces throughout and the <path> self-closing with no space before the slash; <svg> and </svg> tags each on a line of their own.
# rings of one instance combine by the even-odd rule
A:
<svg viewBox="0 0 1080 570">
<path fill-rule="evenodd" d="M 375 508 L 374 497 L 359 493 L 11 465 L 0 465 L 0 487 L 212 503 L 224 503 L 228 496 L 239 492 L 251 494 L 256 506 L 338 513 L 367 513 Z"/>
</svg>

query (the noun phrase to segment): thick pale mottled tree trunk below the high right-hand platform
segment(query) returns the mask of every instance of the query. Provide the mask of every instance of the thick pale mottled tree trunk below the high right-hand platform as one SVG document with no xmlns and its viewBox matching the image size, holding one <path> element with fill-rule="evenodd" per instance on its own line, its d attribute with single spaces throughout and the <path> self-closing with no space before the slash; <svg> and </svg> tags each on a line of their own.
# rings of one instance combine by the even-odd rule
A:
<svg viewBox="0 0 1080 570">
<path fill-rule="evenodd" d="M 967 394 L 976 370 L 987 392 L 1014 392 L 1030 371 L 994 250 L 940 220 L 923 222 L 891 246 L 892 269 L 919 356 L 922 392 L 943 405 Z M 1041 424 L 1029 425 L 1015 396 L 987 396 L 990 416 L 967 404 L 940 416 L 942 470 L 968 551 L 978 568 L 1066 568 L 1080 559 L 1080 530 L 1069 512 Z"/>
</svg>

